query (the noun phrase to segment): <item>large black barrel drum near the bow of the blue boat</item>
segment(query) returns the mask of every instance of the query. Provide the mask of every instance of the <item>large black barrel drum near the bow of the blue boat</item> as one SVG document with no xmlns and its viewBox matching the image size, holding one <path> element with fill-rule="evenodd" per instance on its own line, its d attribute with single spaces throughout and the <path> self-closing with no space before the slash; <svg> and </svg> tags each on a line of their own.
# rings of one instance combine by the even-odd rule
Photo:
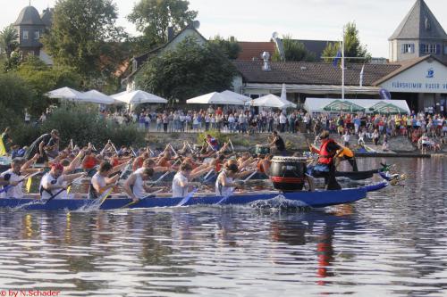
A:
<svg viewBox="0 0 447 297">
<path fill-rule="evenodd" d="M 302 157 L 274 157 L 270 167 L 274 188 L 283 192 L 301 191 L 307 171 L 306 161 Z"/>
</svg>

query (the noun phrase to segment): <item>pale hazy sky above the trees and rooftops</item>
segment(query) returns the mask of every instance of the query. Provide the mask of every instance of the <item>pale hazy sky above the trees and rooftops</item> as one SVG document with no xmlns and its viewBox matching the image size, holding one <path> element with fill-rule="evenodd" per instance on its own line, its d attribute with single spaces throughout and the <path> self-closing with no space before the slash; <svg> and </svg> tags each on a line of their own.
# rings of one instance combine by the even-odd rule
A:
<svg viewBox="0 0 447 297">
<path fill-rule="evenodd" d="M 434 16 L 447 29 L 446 0 L 426 0 Z M 120 19 L 137 34 L 125 16 L 135 0 L 114 0 Z M 205 37 L 219 34 L 240 41 L 268 41 L 274 31 L 300 39 L 338 40 L 342 26 L 356 21 L 360 40 L 375 57 L 388 57 L 388 37 L 416 0 L 190 0 L 198 11 L 199 31 Z M 0 0 L 0 28 L 16 20 L 29 0 Z M 55 0 L 31 0 L 41 12 Z"/>
</svg>

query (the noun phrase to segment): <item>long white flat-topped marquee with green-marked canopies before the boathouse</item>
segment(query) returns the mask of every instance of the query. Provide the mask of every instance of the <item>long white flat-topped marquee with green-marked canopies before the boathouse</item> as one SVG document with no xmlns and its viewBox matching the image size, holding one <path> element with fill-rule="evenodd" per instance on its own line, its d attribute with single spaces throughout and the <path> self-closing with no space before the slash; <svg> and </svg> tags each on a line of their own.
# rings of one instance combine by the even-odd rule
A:
<svg viewBox="0 0 447 297">
<path fill-rule="evenodd" d="M 333 108 L 333 104 L 342 106 L 343 109 Z M 342 104 L 342 105 L 341 105 Z M 350 111 L 351 109 L 362 108 L 364 111 Z M 409 114 L 409 105 L 405 100 L 382 100 L 382 99 L 344 99 L 341 98 L 306 98 L 304 109 L 310 113 L 328 112 L 365 112 L 365 113 L 399 113 Z M 347 110 L 345 110 L 347 109 Z"/>
</svg>

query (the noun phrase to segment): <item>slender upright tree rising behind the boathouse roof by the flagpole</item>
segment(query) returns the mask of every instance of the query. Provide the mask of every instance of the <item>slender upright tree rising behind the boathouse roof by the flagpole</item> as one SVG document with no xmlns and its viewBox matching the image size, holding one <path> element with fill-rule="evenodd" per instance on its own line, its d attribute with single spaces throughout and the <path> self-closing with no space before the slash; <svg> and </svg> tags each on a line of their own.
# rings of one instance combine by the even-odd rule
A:
<svg viewBox="0 0 447 297">
<path fill-rule="evenodd" d="M 367 47 L 360 44 L 360 38 L 358 37 L 358 29 L 355 22 L 349 22 L 344 26 L 344 56 L 346 57 L 362 57 L 362 59 L 346 59 L 346 62 L 366 62 L 371 60 L 371 54 L 367 52 Z M 323 51 L 323 56 L 325 62 L 333 62 L 335 57 L 340 50 L 340 44 L 330 43 L 326 46 Z"/>
</svg>

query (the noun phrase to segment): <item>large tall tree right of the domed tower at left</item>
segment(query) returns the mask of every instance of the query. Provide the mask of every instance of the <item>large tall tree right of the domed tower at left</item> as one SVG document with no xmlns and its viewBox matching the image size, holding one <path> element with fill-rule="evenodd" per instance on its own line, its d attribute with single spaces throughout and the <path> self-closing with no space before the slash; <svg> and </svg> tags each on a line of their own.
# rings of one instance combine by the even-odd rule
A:
<svg viewBox="0 0 447 297">
<path fill-rule="evenodd" d="M 112 0 L 58 0 L 42 43 L 56 65 L 72 67 L 87 79 L 109 76 L 116 66 L 111 41 L 126 37 L 115 26 L 117 17 Z"/>
</svg>

